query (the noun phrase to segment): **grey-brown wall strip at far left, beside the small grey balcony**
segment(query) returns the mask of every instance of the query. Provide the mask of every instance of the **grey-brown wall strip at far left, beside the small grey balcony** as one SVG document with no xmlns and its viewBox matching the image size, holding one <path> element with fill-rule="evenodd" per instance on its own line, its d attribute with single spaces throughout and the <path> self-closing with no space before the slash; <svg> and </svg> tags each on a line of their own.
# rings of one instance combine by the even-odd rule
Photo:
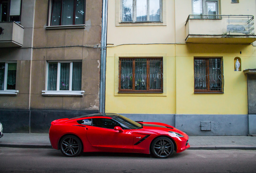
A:
<svg viewBox="0 0 256 173">
<path fill-rule="evenodd" d="M 29 109 L 32 59 L 33 18 L 35 0 L 22 1 L 21 26 L 24 28 L 22 48 L 0 48 L 0 62 L 17 62 L 17 96 L 0 96 L 0 109 Z"/>
</svg>

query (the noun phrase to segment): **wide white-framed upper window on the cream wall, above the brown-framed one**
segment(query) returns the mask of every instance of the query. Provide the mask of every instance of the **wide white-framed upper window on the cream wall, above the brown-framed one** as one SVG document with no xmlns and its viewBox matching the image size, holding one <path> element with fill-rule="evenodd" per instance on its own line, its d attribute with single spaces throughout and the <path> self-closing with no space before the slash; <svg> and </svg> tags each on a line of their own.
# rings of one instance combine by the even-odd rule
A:
<svg viewBox="0 0 256 173">
<path fill-rule="evenodd" d="M 122 22 L 161 22 L 162 0 L 121 0 Z"/>
</svg>

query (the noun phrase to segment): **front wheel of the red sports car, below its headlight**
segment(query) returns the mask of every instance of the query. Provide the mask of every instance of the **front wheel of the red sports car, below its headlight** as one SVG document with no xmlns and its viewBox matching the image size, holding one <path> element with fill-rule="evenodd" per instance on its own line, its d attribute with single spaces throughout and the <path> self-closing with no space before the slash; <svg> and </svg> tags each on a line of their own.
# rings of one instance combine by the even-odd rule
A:
<svg viewBox="0 0 256 173">
<path fill-rule="evenodd" d="M 174 145 L 171 139 L 167 137 L 158 137 L 152 142 L 151 151 L 153 156 L 164 159 L 173 154 Z"/>
</svg>

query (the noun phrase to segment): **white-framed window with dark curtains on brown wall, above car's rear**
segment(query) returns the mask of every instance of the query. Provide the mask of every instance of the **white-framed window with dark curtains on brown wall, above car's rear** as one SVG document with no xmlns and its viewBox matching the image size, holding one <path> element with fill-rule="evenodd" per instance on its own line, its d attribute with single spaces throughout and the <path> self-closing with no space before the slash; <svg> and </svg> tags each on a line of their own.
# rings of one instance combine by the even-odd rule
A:
<svg viewBox="0 0 256 173">
<path fill-rule="evenodd" d="M 48 62 L 47 91 L 81 91 L 82 62 Z"/>
</svg>

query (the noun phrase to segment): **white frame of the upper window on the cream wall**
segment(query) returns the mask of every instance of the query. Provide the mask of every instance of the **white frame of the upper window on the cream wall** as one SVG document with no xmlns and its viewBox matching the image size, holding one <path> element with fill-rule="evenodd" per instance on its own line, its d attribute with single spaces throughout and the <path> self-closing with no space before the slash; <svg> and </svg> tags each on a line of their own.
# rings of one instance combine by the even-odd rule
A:
<svg viewBox="0 0 256 173">
<path fill-rule="evenodd" d="M 136 0 L 132 0 L 132 21 L 122 21 L 123 18 L 123 0 L 120 0 L 120 21 L 122 23 L 151 23 L 151 22 L 163 22 L 163 0 L 159 0 L 160 7 L 160 20 L 149 21 L 149 0 L 147 0 L 147 21 L 136 21 Z"/>
</svg>

